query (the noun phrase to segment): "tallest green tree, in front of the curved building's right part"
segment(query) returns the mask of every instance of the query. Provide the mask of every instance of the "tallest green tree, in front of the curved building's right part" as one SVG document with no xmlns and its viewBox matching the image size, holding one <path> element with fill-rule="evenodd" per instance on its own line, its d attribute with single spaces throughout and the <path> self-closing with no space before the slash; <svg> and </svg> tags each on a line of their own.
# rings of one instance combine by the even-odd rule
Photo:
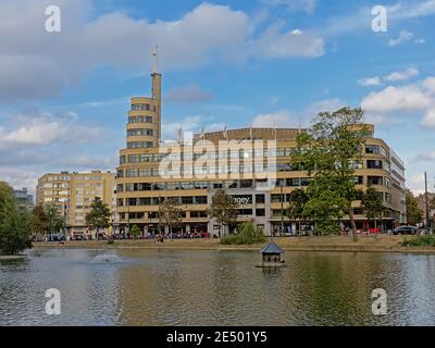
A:
<svg viewBox="0 0 435 348">
<path fill-rule="evenodd" d="M 293 157 L 294 165 L 313 175 L 304 212 L 314 221 L 316 232 L 338 233 L 339 220 L 347 213 L 355 241 L 358 238 L 351 202 L 357 198 L 355 164 L 368 137 L 363 120 L 361 109 L 319 113 L 312 127 L 298 135 Z"/>
</svg>

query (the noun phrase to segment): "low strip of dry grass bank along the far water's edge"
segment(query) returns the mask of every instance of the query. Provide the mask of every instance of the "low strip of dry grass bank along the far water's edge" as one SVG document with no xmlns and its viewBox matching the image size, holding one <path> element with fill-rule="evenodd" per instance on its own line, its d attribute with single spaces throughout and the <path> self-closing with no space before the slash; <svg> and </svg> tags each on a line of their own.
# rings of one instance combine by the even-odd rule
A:
<svg viewBox="0 0 435 348">
<path fill-rule="evenodd" d="M 360 236 L 357 243 L 351 236 L 287 237 L 275 238 L 276 244 L 286 251 L 361 251 L 361 252 L 435 252 L 435 247 L 402 246 L 406 236 Z M 35 243 L 36 249 L 181 249 L 181 250 L 260 250 L 264 246 L 222 245 L 220 239 L 172 239 L 156 244 L 153 240 L 84 240 L 58 243 Z"/>
</svg>

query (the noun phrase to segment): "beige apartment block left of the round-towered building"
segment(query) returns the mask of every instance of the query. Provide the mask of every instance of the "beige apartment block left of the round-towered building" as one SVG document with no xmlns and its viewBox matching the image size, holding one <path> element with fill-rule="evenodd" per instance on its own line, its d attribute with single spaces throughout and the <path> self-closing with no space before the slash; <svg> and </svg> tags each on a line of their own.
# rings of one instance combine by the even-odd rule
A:
<svg viewBox="0 0 435 348">
<path fill-rule="evenodd" d="M 54 206 L 65 219 L 71 237 L 84 236 L 87 231 L 85 217 L 96 197 L 114 212 L 115 174 L 92 171 L 90 173 L 46 174 L 38 179 L 36 203 Z"/>
</svg>

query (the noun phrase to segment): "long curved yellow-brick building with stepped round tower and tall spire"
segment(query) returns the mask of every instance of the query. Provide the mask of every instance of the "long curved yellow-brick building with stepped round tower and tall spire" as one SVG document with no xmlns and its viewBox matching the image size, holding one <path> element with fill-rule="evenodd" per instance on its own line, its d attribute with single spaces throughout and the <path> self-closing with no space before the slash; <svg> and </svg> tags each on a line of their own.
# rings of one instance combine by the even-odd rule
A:
<svg viewBox="0 0 435 348">
<path fill-rule="evenodd" d="M 162 226 L 161 202 L 173 198 L 183 210 L 183 223 L 174 231 L 220 234 L 220 224 L 208 216 L 216 189 L 225 189 L 239 203 L 238 222 L 250 221 L 271 234 L 284 225 L 295 231 L 296 222 L 283 217 L 289 194 L 304 188 L 311 178 L 291 165 L 296 137 L 303 129 L 241 128 L 202 133 L 177 144 L 161 144 L 161 75 L 152 77 L 152 97 L 132 98 L 126 147 L 120 151 L 116 169 L 116 211 L 120 228 L 133 224 L 144 233 Z M 385 229 L 406 223 L 405 166 L 382 139 L 371 137 L 355 161 L 356 183 L 372 185 L 388 211 L 382 219 Z M 170 156 L 169 156 L 170 154 Z M 357 227 L 366 219 L 360 201 L 355 201 Z M 346 216 L 345 224 L 348 224 Z"/>
</svg>

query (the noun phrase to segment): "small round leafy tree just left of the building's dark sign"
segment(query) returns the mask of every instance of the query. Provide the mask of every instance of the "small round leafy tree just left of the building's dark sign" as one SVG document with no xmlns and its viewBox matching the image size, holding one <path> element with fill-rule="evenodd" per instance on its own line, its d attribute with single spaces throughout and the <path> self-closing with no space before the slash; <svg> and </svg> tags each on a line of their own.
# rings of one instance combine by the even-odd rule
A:
<svg viewBox="0 0 435 348">
<path fill-rule="evenodd" d="M 220 236 L 224 225 L 234 224 L 238 216 L 238 203 L 223 189 L 216 190 L 211 199 L 209 215 L 215 217 L 221 224 Z"/>
</svg>

